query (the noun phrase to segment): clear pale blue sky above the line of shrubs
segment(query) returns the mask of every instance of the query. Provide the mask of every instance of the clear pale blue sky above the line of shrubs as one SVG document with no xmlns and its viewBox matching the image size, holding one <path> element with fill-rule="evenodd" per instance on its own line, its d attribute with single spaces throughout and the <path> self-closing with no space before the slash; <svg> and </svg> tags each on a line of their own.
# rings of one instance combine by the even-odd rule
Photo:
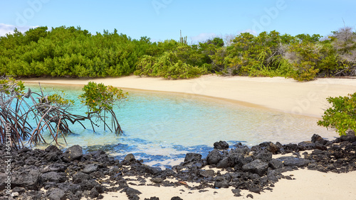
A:
<svg viewBox="0 0 356 200">
<path fill-rule="evenodd" d="M 241 32 L 318 33 L 344 26 L 356 28 L 356 1 L 313 0 L 16 0 L 0 1 L 0 35 L 14 27 L 80 26 L 90 33 L 114 28 L 131 38 L 189 41 Z"/>
</svg>

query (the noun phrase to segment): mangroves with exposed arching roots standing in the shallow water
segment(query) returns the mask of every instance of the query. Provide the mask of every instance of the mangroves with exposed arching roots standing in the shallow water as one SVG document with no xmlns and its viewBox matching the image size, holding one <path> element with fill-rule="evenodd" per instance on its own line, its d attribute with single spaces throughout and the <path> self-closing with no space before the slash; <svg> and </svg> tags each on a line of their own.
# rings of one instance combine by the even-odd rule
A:
<svg viewBox="0 0 356 200">
<path fill-rule="evenodd" d="M 79 98 L 88 107 L 87 116 L 70 113 L 74 102 L 66 99 L 63 91 L 46 94 L 43 89 L 38 93 L 28 89 L 25 93 L 22 82 L 17 82 L 12 77 L 1 77 L 0 143 L 9 148 L 22 148 L 23 140 L 26 139 L 30 144 L 46 143 L 42 135 L 46 130 L 58 144 L 58 137 L 63 137 L 66 141 L 65 136 L 72 133 L 70 124 L 80 123 L 85 128 L 81 121 L 90 121 L 93 130 L 94 125 L 99 126 L 94 120 L 100 121 L 104 123 L 104 130 L 108 127 L 112 132 L 122 133 L 114 106 L 126 99 L 127 94 L 122 93 L 121 89 L 93 82 L 85 85 L 83 91 L 85 93 Z M 105 122 L 108 118 L 106 113 L 111 115 L 111 128 Z"/>
</svg>

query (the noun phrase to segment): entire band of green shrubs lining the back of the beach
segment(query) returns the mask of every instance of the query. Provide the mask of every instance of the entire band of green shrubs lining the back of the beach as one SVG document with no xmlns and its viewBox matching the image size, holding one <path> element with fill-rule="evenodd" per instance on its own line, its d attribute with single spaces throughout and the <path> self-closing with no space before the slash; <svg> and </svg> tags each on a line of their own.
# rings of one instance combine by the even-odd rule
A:
<svg viewBox="0 0 356 200">
<path fill-rule="evenodd" d="M 228 45 L 225 45 L 228 44 Z M 194 45 L 187 36 L 152 43 L 127 35 L 92 35 L 80 27 L 14 30 L 0 38 L 0 73 L 17 77 L 120 77 L 129 74 L 188 79 L 217 73 L 254 77 L 356 75 L 356 33 L 340 28 L 328 37 L 241 33 L 234 40 L 212 38 Z"/>
</svg>

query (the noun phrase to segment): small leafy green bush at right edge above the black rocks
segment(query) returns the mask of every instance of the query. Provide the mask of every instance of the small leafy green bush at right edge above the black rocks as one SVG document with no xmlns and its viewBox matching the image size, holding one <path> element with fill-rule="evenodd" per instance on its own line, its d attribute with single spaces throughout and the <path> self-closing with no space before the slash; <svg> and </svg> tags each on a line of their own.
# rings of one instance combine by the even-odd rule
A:
<svg viewBox="0 0 356 200">
<path fill-rule="evenodd" d="M 348 96 L 329 97 L 332 104 L 326 110 L 319 126 L 336 128 L 337 133 L 345 135 L 347 130 L 356 130 L 356 92 Z"/>
</svg>

